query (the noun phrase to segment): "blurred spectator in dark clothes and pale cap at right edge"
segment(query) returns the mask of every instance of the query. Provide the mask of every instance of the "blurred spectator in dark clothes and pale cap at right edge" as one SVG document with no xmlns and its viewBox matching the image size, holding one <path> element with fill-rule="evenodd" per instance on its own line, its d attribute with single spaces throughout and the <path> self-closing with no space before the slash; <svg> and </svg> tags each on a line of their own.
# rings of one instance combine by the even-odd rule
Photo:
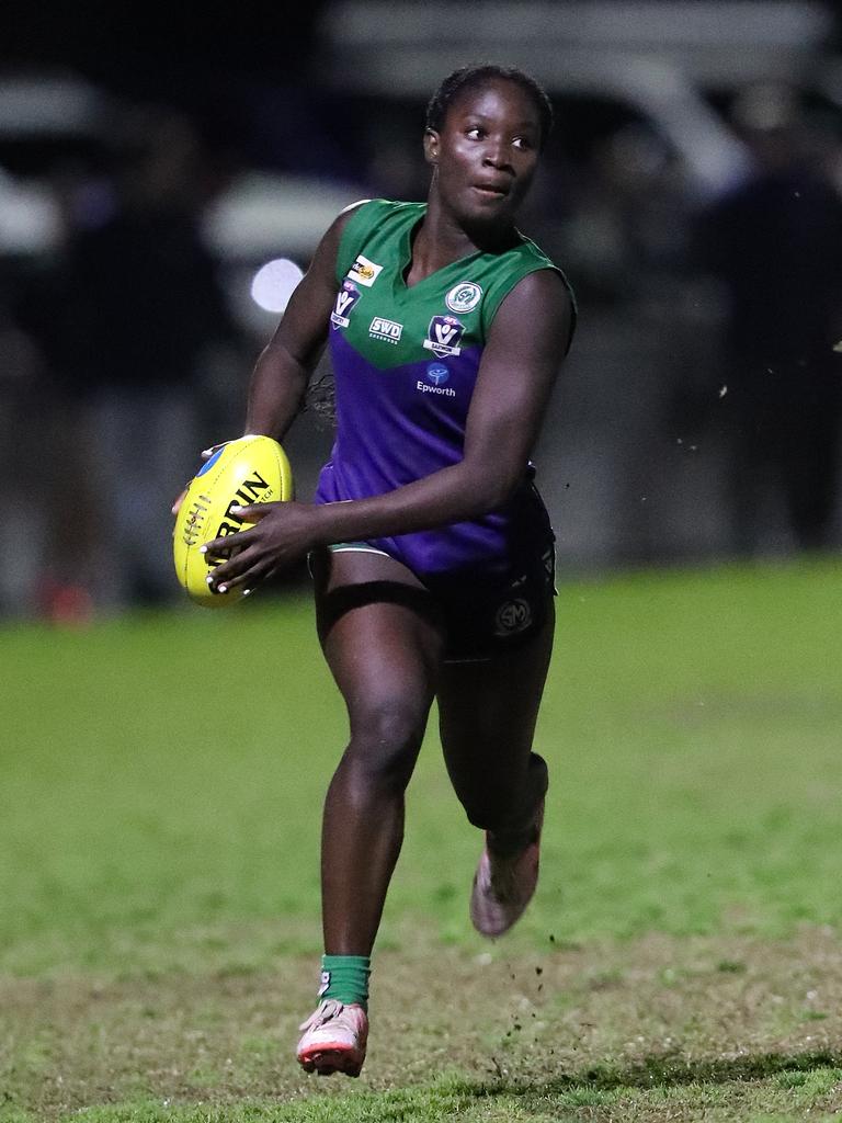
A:
<svg viewBox="0 0 842 1123">
<path fill-rule="evenodd" d="M 733 541 L 762 545 L 780 501 L 797 546 L 827 546 L 836 506 L 842 358 L 842 198 L 812 158 L 787 90 L 751 88 L 733 110 L 753 174 L 702 223 L 702 253 L 724 284 L 722 417 Z"/>
</svg>

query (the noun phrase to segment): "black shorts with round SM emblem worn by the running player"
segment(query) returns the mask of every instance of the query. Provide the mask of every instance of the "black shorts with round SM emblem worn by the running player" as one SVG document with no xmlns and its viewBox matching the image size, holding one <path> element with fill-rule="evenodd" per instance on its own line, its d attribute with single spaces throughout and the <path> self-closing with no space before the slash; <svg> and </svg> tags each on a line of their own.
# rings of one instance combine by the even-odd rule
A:
<svg viewBox="0 0 842 1123">
<path fill-rule="evenodd" d="M 382 554 L 366 542 L 342 542 L 332 551 Z M 311 559 L 311 572 L 318 572 Z M 344 585 L 321 597 L 319 631 L 323 636 L 350 609 L 364 604 L 402 604 L 445 632 L 446 663 L 493 659 L 529 642 L 543 627 L 556 594 L 556 550 L 551 538 L 497 575 L 468 569 L 420 577 L 423 588 L 394 581 Z M 318 578 L 317 578 L 318 579 Z"/>
</svg>

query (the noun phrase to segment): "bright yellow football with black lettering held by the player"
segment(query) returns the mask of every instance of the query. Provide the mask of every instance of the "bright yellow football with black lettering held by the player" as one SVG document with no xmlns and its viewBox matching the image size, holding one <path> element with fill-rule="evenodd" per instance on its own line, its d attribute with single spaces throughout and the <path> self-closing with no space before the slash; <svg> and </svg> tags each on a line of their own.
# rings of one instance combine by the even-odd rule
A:
<svg viewBox="0 0 842 1123">
<path fill-rule="evenodd" d="M 242 600 L 242 590 L 231 590 L 225 596 L 211 592 L 208 576 L 223 559 L 202 554 L 201 547 L 248 526 L 231 508 L 292 497 L 290 462 L 271 437 L 228 441 L 202 465 L 190 482 L 173 530 L 175 572 L 191 600 L 209 609 Z"/>
</svg>

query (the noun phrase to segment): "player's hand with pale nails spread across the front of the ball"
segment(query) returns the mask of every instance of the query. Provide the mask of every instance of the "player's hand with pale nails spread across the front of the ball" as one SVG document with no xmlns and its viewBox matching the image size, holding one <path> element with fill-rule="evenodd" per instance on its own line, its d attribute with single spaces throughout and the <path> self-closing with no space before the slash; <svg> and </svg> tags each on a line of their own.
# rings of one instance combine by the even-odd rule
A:
<svg viewBox="0 0 842 1123">
<path fill-rule="evenodd" d="M 208 577 L 214 592 L 227 593 L 237 585 L 250 592 L 259 582 L 300 562 L 315 545 L 311 504 L 257 503 L 232 506 L 231 513 L 254 526 L 205 542 L 203 553 L 227 559 Z"/>
</svg>

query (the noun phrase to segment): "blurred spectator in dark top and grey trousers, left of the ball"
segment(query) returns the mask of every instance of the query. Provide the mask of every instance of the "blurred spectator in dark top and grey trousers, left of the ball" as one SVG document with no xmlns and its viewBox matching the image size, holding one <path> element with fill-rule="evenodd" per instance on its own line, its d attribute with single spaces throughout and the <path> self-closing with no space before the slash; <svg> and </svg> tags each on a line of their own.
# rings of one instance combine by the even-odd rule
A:
<svg viewBox="0 0 842 1123">
<path fill-rule="evenodd" d="M 25 316 L 76 433 L 53 577 L 100 608 L 174 594 L 170 506 L 195 468 L 202 368 L 235 338 L 199 234 L 210 180 L 195 131 L 156 110 L 126 135 L 112 207 L 71 229 Z"/>
</svg>

